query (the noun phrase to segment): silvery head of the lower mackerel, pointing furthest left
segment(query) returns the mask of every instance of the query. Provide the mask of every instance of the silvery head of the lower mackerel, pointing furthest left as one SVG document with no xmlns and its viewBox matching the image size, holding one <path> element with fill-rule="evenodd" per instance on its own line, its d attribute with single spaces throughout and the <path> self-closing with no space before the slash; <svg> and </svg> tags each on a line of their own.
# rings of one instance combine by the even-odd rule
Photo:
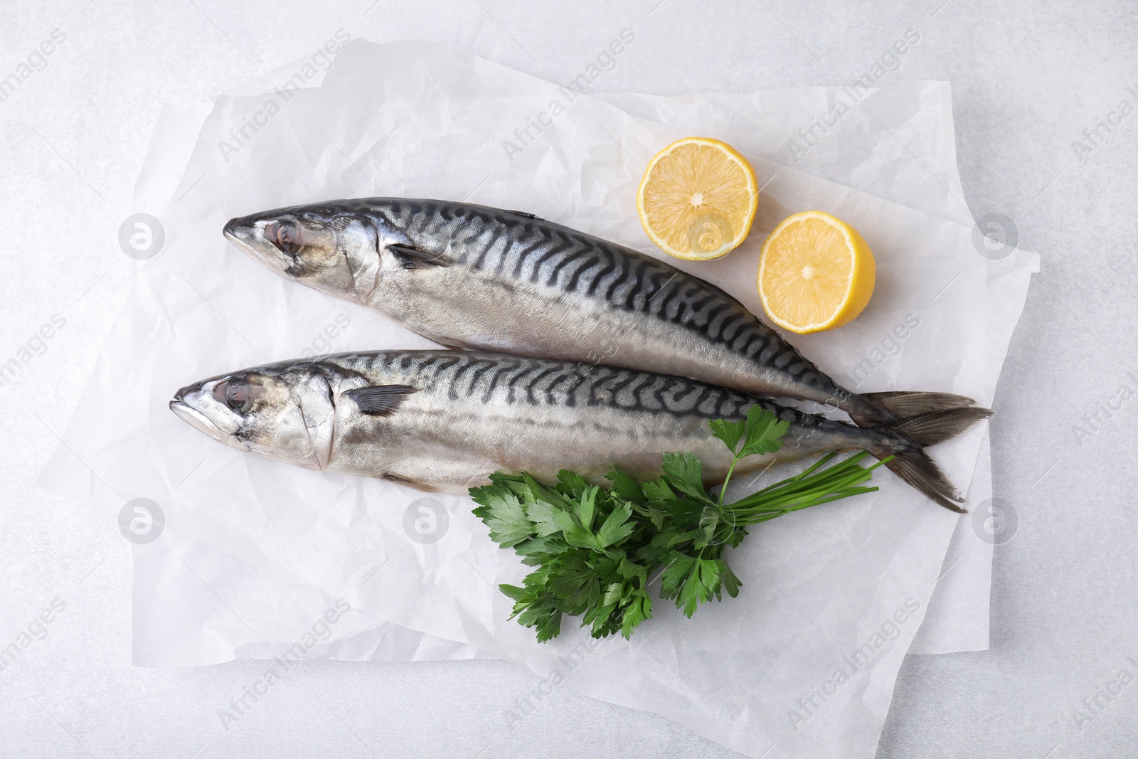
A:
<svg viewBox="0 0 1138 759">
<path fill-rule="evenodd" d="M 170 410 L 225 445 L 306 469 L 323 469 L 336 409 L 328 380 L 299 366 L 251 369 L 183 387 Z"/>
</svg>

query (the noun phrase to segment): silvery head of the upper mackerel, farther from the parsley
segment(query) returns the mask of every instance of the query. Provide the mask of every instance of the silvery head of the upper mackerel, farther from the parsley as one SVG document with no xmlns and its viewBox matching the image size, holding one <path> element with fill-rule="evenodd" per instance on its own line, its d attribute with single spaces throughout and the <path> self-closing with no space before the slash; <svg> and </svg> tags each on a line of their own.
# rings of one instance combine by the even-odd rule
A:
<svg viewBox="0 0 1138 759">
<path fill-rule="evenodd" d="M 255 261 L 322 292 L 362 302 L 357 284 L 364 295 L 374 288 L 376 231 L 354 214 L 279 208 L 231 218 L 223 232 Z"/>
</svg>

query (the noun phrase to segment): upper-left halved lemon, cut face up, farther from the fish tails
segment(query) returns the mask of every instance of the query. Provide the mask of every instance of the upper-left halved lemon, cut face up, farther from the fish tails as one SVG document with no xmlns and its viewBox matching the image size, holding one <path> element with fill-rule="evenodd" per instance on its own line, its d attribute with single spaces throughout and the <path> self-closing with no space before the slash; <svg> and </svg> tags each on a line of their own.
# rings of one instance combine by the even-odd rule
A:
<svg viewBox="0 0 1138 759">
<path fill-rule="evenodd" d="M 759 203 L 754 170 L 726 142 L 676 140 L 644 171 L 636 208 L 649 238 L 676 258 L 710 261 L 747 239 Z"/>
</svg>

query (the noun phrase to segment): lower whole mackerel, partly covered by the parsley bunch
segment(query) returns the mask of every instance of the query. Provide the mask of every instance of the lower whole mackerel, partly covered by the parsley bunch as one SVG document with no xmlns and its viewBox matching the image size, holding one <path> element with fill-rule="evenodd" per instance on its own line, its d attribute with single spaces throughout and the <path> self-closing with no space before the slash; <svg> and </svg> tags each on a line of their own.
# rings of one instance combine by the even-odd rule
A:
<svg viewBox="0 0 1138 759">
<path fill-rule="evenodd" d="M 819 453 L 869 451 L 940 505 L 959 495 L 924 451 L 990 412 L 963 407 L 858 428 L 754 395 L 665 374 L 465 350 L 384 350 L 286 361 L 182 388 L 171 410 L 211 438 L 306 469 L 465 492 L 492 472 L 601 482 L 610 464 L 646 479 L 682 451 L 723 481 L 731 454 L 712 419 L 761 405 L 787 420 L 782 448 L 736 473 Z"/>
</svg>

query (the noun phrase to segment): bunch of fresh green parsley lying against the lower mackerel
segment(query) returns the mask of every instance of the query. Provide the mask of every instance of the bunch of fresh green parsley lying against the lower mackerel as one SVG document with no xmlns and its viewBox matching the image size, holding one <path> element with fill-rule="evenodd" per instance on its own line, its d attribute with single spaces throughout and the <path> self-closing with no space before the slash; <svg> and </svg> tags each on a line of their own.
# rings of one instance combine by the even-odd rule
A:
<svg viewBox="0 0 1138 759">
<path fill-rule="evenodd" d="M 778 451 L 789 423 L 756 405 L 745 420 L 710 424 L 733 454 L 718 495 L 704 489 L 703 464 L 691 453 L 663 454 L 662 476 L 646 482 L 613 468 L 612 487 L 562 470 L 553 487 L 525 472 L 497 472 L 489 485 L 471 488 L 480 504 L 475 514 L 490 539 L 536 568 L 521 587 L 498 586 L 514 601 L 511 619 L 536 627 L 539 642 L 560 634 L 563 614 L 583 616 L 593 637 L 619 632 L 627 638 L 652 616 L 648 587 L 657 575 L 660 599 L 675 600 L 691 617 L 723 591 L 739 594 L 741 583 L 724 552 L 743 541 L 749 526 L 877 489 L 861 484 L 884 461 L 863 467 L 869 454 L 861 452 L 827 465 L 838 455 L 831 453 L 794 477 L 725 504 L 735 465 Z"/>
</svg>

